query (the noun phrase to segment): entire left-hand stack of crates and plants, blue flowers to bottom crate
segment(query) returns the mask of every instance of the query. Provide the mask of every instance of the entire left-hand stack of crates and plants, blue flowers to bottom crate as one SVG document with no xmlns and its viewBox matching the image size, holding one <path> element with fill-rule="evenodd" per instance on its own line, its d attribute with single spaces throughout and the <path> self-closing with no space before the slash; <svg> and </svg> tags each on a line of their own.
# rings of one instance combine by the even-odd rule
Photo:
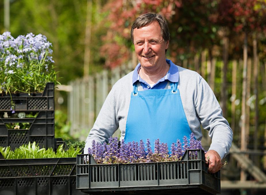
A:
<svg viewBox="0 0 266 195">
<path fill-rule="evenodd" d="M 44 35 L 0 35 L 0 195 L 84 194 L 76 190 L 81 148 L 54 138 L 56 71 Z"/>
</svg>

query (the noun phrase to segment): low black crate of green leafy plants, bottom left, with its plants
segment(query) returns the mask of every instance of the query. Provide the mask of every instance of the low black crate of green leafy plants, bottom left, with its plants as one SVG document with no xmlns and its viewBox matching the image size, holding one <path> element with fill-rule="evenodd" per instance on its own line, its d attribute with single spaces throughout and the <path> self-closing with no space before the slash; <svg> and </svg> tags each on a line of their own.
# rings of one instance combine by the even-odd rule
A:
<svg viewBox="0 0 266 195">
<path fill-rule="evenodd" d="M 81 148 L 56 152 L 40 148 L 35 142 L 14 151 L 0 147 L 0 194 L 84 195 L 76 190 L 76 158 Z"/>
</svg>

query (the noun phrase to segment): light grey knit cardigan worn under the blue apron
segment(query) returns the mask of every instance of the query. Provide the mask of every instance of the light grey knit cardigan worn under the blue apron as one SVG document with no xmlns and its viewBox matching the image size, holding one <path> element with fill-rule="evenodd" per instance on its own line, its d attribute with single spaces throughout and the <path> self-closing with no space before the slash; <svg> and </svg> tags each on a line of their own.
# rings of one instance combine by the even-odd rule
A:
<svg viewBox="0 0 266 195">
<path fill-rule="evenodd" d="M 215 150 L 221 158 L 224 158 L 229 153 L 233 132 L 222 116 L 221 107 L 214 93 L 197 72 L 180 66 L 178 71 L 178 89 L 191 131 L 196 139 L 201 140 L 200 124 L 202 124 L 204 129 L 209 130 L 209 136 L 212 138 L 209 150 Z M 133 89 L 132 75 L 133 71 L 119 79 L 108 94 L 86 139 L 85 154 L 88 153 L 92 140 L 99 143 L 108 142 L 108 138 L 118 127 L 121 130 L 120 141 L 124 139 L 130 95 Z M 169 84 L 166 88 L 170 88 Z M 138 90 L 143 90 L 139 83 Z"/>
</svg>

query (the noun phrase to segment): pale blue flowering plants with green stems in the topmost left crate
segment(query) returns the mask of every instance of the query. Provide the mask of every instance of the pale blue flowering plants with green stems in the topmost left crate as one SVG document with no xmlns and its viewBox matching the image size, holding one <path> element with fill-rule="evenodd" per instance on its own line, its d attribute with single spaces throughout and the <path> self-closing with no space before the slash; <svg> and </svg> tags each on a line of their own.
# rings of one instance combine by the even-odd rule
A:
<svg viewBox="0 0 266 195">
<path fill-rule="evenodd" d="M 58 84 L 51 48 L 41 34 L 0 35 L 0 94 L 39 93 L 47 82 Z"/>
</svg>

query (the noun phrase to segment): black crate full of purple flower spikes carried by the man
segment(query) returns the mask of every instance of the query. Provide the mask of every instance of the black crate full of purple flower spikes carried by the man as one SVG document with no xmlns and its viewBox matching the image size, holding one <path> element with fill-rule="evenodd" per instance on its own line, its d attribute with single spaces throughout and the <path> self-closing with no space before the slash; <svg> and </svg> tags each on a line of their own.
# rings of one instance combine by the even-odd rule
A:
<svg viewBox="0 0 266 195">
<path fill-rule="evenodd" d="M 205 151 L 191 134 L 170 151 L 157 139 L 119 144 L 93 143 L 90 154 L 77 155 L 77 189 L 89 194 L 220 193 L 220 171 L 208 173 Z M 170 153 L 170 154 L 169 154 Z"/>
</svg>

